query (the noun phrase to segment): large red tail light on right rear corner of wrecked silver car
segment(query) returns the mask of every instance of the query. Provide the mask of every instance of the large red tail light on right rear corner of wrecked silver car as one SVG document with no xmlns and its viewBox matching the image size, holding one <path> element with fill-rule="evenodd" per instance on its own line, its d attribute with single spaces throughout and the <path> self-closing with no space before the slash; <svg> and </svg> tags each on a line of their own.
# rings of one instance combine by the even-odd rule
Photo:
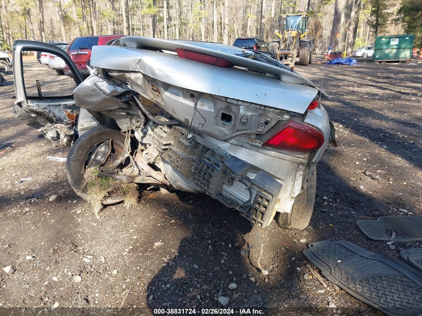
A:
<svg viewBox="0 0 422 316">
<path fill-rule="evenodd" d="M 290 121 L 263 146 L 311 152 L 324 144 L 324 135 L 314 127 Z"/>
</svg>

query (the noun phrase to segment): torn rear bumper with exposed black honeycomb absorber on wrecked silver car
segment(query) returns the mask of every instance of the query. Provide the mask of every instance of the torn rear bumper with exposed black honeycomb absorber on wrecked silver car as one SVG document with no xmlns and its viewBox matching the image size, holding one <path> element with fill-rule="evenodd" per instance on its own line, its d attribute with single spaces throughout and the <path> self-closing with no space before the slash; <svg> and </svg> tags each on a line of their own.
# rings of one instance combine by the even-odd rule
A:
<svg viewBox="0 0 422 316">
<path fill-rule="evenodd" d="M 254 225 L 267 227 L 277 212 L 290 213 L 296 196 L 306 189 L 312 153 L 275 152 L 207 135 L 188 137 L 181 127 L 154 124 L 151 129 L 149 141 L 173 187 L 206 193 Z M 149 150 L 144 157 L 153 153 Z"/>
</svg>

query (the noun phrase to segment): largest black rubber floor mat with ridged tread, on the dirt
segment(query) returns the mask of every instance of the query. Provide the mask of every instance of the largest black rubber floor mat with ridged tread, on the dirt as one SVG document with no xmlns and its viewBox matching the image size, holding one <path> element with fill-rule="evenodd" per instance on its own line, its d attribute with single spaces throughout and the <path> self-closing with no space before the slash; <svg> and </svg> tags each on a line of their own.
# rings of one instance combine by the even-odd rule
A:
<svg viewBox="0 0 422 316">
<path fill-rule="evenodd" d="M 388 255 L 346 241 L 309 244 L 303 254 L 324 277 L 357 299 L 389 314 L 422 314 L 422 273 Z"/>
</svg>

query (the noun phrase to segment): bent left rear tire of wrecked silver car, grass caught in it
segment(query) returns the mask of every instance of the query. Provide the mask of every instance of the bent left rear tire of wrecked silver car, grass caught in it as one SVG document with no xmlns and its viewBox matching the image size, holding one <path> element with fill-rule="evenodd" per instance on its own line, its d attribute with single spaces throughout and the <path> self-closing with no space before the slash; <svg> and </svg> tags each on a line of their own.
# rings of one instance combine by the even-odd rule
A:
<svg viewBox="0 0 422 316">
<path fill-rule="evenodd" d="M 71 188 L 82 199 L 87 200 L 86 188 L 84 188 L 83 173 L 85 171 L 87 159 L 92 153 L 92 148 L 102 143 L 105 140 L 112 139 L 116 143 L 124 144 L 125 137 L 119 130 L 110 127 L 99 125 L 96 126 L 82 136 L 80 136 L 70 148 L 66 161 L 66 176 Z M 118 151 L 114 146 L 114 151 Z M 118 155 L 119 152 L 116 152 Z M 103 205 L 115 204 L 123 201 L 123 196 L 117 195 L 108 197 L 103 201 Z"/>
</svg>

